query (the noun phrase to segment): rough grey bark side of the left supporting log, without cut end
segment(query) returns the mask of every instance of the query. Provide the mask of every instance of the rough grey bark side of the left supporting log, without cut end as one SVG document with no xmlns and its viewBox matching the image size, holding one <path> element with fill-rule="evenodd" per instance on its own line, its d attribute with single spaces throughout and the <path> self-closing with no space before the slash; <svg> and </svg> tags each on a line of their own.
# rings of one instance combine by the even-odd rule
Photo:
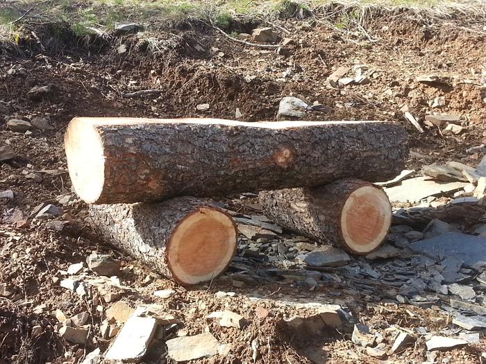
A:
<svg viewBox="0 0 486 364">
<path fill-rule="evenodd" d="M 171 271 L 166 246 L 178 224 L 201 208 L 225 214 L 209 200 L 184 196 L 153 204 L 90 205 L 88 222 L 104 241 L 155 268 L 161 275 L 187 284 Z"/>
</svg>

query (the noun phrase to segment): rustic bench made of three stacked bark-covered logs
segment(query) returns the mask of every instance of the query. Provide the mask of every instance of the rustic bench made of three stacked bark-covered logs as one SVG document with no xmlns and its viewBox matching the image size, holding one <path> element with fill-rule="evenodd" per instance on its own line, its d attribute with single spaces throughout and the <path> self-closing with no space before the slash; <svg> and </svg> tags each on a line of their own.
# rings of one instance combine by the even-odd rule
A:
<svg viewBox="0 0 486 364">
<path fill-rule="evenodd" d="M 364 254 L 391 211 L 348 178 L 387 180 L 408 156 L 403 128 L 378 121 L 75 118 L 65 150 L 99 236 L 184 285 L 224 272 L 237 245 L 231 218 L 201 198 L 274 190 L 260 199 L 276 223 Z"/>
</svg>

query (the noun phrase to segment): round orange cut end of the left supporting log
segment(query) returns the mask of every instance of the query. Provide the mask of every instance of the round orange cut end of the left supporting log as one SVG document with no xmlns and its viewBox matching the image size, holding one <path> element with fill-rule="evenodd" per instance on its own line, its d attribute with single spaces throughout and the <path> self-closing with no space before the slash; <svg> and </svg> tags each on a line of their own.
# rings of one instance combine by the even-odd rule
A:
<svg viewBox="0 0 486 364">
<path fill-rule="evenodd" d="M 167 265 L 183 285 L 210 281 L 223 272 L 237 246 L 237 231 L 221 211 L 202 208 L 181 220 L 167 244 Z"/>
</svg>

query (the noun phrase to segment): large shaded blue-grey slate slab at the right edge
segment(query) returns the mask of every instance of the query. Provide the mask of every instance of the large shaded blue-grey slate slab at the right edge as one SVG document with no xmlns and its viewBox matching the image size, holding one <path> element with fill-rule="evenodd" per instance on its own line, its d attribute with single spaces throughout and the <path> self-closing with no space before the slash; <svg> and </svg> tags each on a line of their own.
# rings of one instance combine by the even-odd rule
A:
<svg viewBox="0 0 486 364">
<path fill-rule="evenodd" d="M 414 252 L 426 254 L 435 259 L 454 256 L 466 266 L 486 261 L 486 237 L 449 232 L 409 245 Z"/>
</svg>

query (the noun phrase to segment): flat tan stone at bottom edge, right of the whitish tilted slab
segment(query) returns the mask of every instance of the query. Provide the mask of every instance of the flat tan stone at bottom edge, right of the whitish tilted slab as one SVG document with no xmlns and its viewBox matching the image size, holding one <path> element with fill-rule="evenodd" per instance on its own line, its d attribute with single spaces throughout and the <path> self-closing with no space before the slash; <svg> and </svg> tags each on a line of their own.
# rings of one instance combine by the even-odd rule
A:
<svg viewBox="0 0 486 364">
<path fill-rule="evenodd" d="M 166 345 L 167 356 L 179 362 L 215 356 L 218 354 L 219 342 L 212 333 L 200 333 L 167 340 Z"/>
</svg>

